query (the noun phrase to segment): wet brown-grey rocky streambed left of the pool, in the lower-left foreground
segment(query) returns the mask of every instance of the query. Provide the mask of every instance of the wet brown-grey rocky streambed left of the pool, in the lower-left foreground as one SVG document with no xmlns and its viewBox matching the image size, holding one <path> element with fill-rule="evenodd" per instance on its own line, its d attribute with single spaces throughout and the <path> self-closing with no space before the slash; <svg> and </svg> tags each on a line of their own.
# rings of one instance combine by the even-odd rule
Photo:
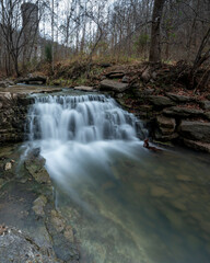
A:
<svg viewBox="0 0 210 263">
<path fill-rule="evenodd" d="M 73 228 L 55 207 L 54 187 L 39 151 L 0 151 L 0 259 L 8 262 L 79 262 Z M 22 157 L 23 158 L 23 157 Z"/>
</svg>

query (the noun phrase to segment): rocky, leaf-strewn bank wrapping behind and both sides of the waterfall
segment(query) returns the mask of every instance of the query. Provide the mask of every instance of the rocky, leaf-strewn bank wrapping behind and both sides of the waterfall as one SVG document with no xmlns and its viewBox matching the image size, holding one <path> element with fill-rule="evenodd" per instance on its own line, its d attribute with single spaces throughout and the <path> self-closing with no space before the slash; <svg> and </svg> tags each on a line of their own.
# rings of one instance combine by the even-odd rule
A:
<svg viewBox="0 0 210 263">
<path fill-rule="evenodd" d="M 174 82 L 174 67 L 149 65 L 94 66 L 92 75 L 80 84 L 81 67 L 75 67 L 73 82 L 61 81 L 67 69 L 56 68 L 54 79 L 44 78 L 52 87 L 13 85 L 0 88 L 0 144 L 24 139 L 25 114 L 33 103 L 31 93 L 58 92 L 62 88 L 96 91 L 112 95 L 127 111 L 143 119 L 149 137 L 158 144 L 184 146 L 197 151 L 210 152 L 210 93 L 208 88 L 188 90 L 183 78 Z M 177 69 L 176 69 L 177 70 Z M 62 75 L 61 75 L 62 72 Z M 174 75 L 173 75 L 174 73 Z M 171 76 L 171 77 L 170 77 Z M 31 76 L 27 82 L 40 77 Z M 23 79 L 22 79 L 23 80 Z M 91 83 L 92 81 L 92 83 Z M 58 85 L 57 85 L 58 84 Z M 90 85 L 86 85 L 90 84 Z"/>
</svg>

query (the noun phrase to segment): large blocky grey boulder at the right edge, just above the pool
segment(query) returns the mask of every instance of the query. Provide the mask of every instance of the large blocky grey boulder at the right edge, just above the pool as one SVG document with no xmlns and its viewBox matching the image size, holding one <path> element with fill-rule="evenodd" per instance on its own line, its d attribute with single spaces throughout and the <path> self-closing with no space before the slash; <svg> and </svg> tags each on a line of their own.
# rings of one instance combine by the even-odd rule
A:
<svg viewBox="0 0 210 263">
<path fill-rule="evenodd" d="M 182 121 L 178 130 L 186 139 L 210 142 L 210 123 Z"/>
</svg>

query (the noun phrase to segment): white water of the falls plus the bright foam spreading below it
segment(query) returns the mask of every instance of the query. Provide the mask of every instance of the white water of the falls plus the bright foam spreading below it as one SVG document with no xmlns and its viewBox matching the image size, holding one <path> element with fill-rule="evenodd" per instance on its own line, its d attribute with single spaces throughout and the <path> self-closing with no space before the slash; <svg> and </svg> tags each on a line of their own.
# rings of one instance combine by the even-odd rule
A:
<svg viewBox="0 0 210 263">
<path fill-rule="evenodd" d="M 113 157 L 135 158 L 133 148 L 144 138 L 141 122 L 105 95 L 37 96 L 28 129 L 50 176 L 80 203 L 74 186 L 93 174 L 109 176 Z"/>
</svg>

